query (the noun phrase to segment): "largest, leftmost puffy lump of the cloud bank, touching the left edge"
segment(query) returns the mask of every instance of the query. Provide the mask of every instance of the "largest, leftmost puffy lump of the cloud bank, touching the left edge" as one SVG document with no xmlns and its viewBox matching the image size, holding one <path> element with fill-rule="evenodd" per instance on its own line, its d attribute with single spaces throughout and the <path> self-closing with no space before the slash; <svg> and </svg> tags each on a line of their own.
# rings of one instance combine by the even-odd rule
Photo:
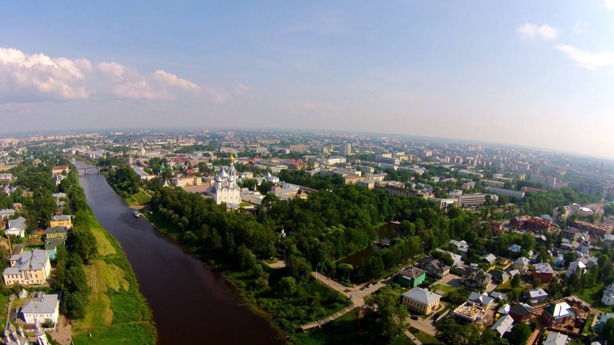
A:
<svg viewBox="0 0 614 345">
<path fill-rule="evenodd" d="M 91 72 L 91 63 L 85 59 L 51 58 L 42 53 L 28 55 L 21 50 L 0 47 L 0 91 L 5 93 L 28 93 L 33 98 L 85 99 L 91 93 L 85 85 Z"/>
</svg>

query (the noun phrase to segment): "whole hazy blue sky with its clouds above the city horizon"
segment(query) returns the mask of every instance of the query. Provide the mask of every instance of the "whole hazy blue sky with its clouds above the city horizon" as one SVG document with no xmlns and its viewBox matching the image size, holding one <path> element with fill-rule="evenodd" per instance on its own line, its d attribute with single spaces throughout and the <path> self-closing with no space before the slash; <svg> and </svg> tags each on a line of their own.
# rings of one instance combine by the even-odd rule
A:
<svg viewBox="0 0 614 345">
<path fill-rule="evenodd" d="M 614 156 L 614 0 L 10 2 L 0 49 L 0 133 L 284 127 Z"/>
</svg>

